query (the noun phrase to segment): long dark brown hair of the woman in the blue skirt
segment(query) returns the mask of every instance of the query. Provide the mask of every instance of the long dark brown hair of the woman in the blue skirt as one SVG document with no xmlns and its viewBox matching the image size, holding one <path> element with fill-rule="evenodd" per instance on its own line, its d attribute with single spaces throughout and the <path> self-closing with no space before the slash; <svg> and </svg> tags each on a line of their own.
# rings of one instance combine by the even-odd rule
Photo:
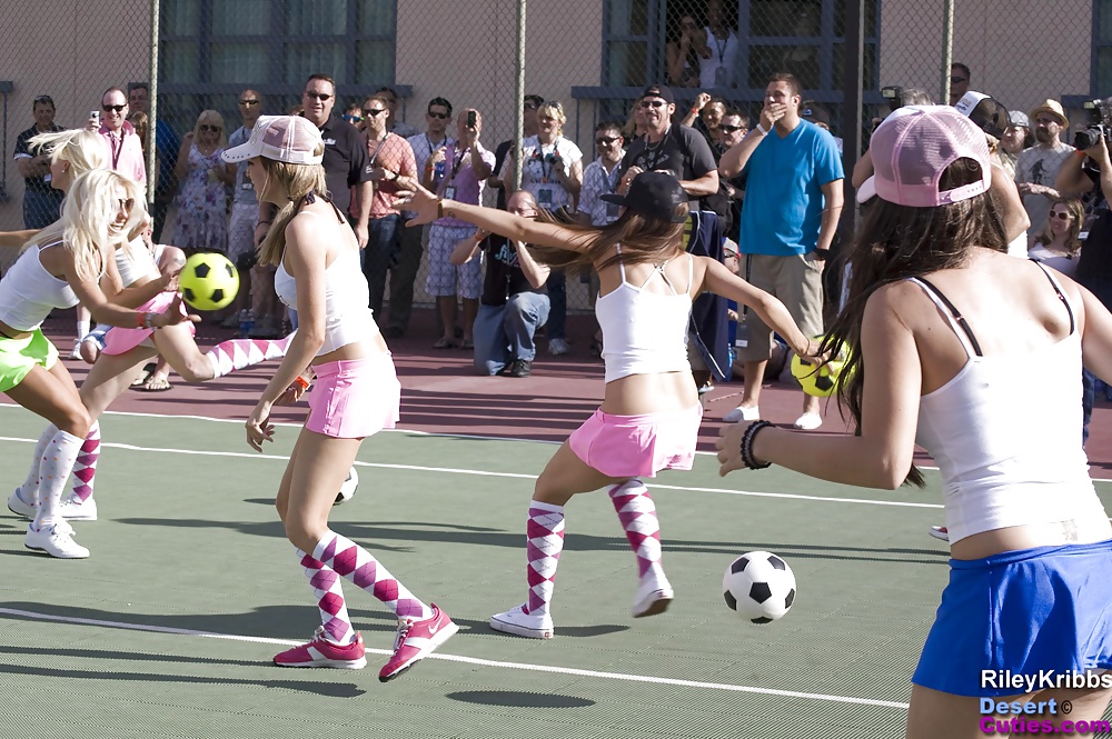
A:
<svg viewBox="0 0 1112 739">
<path fill-rule="evenodd" d="M 976 161 L 959 159 L 943 172 L 939 190 L 944 192 L 980 179 L 981 166 Z M 866 369 L 861 354 L 861 323 L 868 298 L 892 282 L 960 268 L 969 262 L 973 247 L 1007 252 L 1003 210 L 991 192 L 934 208 L 875 200 L 850 248 L 848 299 L 822 346 L 831 356 L 848 349 L 837 380 L 838 408 L 843 415 L 848 409 L 857 436 Z M 907 482 L 924 485 L 923 473 L 914 465 L 904 480 Z"/>
</svg>

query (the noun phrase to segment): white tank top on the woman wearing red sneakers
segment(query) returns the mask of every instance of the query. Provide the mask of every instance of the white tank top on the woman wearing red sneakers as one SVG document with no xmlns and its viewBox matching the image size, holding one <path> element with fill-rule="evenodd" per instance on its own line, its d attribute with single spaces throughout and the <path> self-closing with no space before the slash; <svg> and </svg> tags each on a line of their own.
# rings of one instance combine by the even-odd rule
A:
<svg viewBox="0 0 1112 739">
<path fill-rule="evenodd" d="M 285 262 L 275 273 L 275 292 L 284 303 L 297 310 L 297 284 L 286 271 Z M 378 333 L 369 303 L 370 289 L 359 264 L 359 250 L 345 249 L 325 270 L 325 343 L 318 357 Z"/>
</svg>

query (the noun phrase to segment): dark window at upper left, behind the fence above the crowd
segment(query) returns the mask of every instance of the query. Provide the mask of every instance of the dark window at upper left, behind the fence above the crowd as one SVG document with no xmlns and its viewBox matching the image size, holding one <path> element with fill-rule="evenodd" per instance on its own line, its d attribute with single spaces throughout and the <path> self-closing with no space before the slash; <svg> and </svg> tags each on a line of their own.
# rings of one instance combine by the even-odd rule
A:
<svg viewBox="0 0 1112 739">
<path fill-rule="evenodd" d="M 345 100 L 394 83 L 397 0 L 161 0 L 160 22 L 159 117 L 178 130 L 206 108 L 238 120 L 245 87 L 274 113 L 314 72 Z"/>
</svg>

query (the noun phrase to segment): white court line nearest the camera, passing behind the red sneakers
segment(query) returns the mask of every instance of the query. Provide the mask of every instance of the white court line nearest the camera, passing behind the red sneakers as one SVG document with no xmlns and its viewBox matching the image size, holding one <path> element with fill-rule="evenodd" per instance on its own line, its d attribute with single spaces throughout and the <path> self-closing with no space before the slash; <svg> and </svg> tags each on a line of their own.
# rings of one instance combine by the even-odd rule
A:
<svg viewBox="0 0 1112 739">
<path fill-rule="evenodd" d="M 82 626 L 100 626 L 110 629 L 129 629 L 132 631 L 152 631 L 156 633 L 172 633 L 186 637 L 203 637 L 207 639 L 229 639 L 232 641 L 248 641 L 266 645 L 288 645 L 298 646 L 304 642 L 290 641 L 287 639 L 270 639 L 267 637 L 245 637 L 232 633 L 216 633 L 212 631 L 195 631 L 192 629 L 178 629 L 166 626 L 147 626 L 145 623 L 126 623 L 122 621 L 102 621 L 99 619 L 77 618 L 68 616 L 53 616 L 51 613 L 36 613 L 34 611 L 22 611 L 12 608 L 0 608 L 0 615 L 13 616 L 18 618 L 29 618 L 40 621 L 61 621 L 63 623 L 80 623 Z M 373 655 L 389 656 L 393 652 L 386 649 L 366 649 Z M 598 670 L 579 670 L 572 667 L 553 667 L 550 665 L 528 665 L 525 662 L 504 662 L 477 657 L 461 657 L 459 655 L 429 655 L 427 659 L 440 659 L 448 662 L 464 662 L 466 665 L 477 665 L 479 667 L 497 667 L 507 670 L 527 670 L 530 672 L 550 672 L 555 675 L 574 675 L 584 678 L 599 678 L 604 680 L 623 680 L 626 682 L 648 682 L 653 685 L 676 686 L 682 688 L 705 688 L 707 690 L 725 690 L 729 692 L 748 692 L 761 696 L 778 696 L 783 698 L 804 698 L 808 700 L 822 700 L 834 703 L 853 703 L 856 706 L 877 706 L 881 708 L 901 708 L 906 710 L 907 703 L 892 700 L 875 700 L 872 698 L 851 698 L 848 696 L 826 696 L 817 692 L 797 692 L 794 690 L 776 690 L 774 688 L 753 688 L 749 686 L 735 686 L 722 682 L 702 682 L 699 680 L 678 680 L 675 678 L 657 678 L 648 675 L 628 675 L 625 672 L 600 672 Z"/>
</svg>

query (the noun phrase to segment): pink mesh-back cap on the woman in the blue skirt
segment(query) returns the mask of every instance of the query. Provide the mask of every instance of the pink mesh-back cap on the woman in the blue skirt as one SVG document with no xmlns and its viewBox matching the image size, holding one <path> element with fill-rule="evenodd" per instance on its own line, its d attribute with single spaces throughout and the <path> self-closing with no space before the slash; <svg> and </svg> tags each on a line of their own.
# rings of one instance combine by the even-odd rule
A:
<svg viewBox="0 0 1112 739">
<path fill-rule="evenodd" d="M 991 168 L 984 131 L 950 106 L 905 106 L 873 132 L 876 196 L 897 206 L 930 208 L 967 200 L 989 189 Z M 981 164 L 981 179 L 939 192 L 939 180 L 959 159 Z"/>
</svg>

